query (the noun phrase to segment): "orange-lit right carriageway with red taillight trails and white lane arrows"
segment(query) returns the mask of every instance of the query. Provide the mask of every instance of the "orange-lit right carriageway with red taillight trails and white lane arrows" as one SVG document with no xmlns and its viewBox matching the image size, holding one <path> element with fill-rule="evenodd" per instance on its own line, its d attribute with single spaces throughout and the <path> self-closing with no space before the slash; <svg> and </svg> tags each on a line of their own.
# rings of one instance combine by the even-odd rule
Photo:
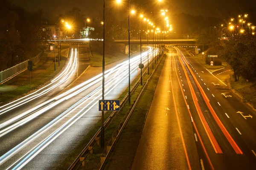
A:
<svg viewBox="0 0 256 170">
<path fill-rule="evenodd" d="M 132 169 L 254 169 L 256 115 L 218 78 L 229 69 L 168 49 Z"/>
</svg>

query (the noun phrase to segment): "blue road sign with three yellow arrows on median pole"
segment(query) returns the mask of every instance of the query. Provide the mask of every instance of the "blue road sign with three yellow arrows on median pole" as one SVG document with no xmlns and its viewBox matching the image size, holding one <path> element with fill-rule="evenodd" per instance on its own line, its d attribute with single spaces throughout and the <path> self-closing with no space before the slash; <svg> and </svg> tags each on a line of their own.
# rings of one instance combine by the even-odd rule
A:
<svg viewBox="0 0 256 170">
<path fill-rule="evenodd" d="M 99 111 L 120 111 L 120 100 L 99 100 Z"/>
</svg>

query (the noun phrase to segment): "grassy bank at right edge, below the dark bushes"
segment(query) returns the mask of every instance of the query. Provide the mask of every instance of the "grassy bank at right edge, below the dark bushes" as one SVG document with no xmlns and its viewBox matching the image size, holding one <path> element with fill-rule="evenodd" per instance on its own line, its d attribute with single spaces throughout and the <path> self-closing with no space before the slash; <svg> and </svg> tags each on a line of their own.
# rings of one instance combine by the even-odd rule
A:
<svg viewBox="0 0 256 170">
<path fill-rule="evenodd" d="M 230 85 L 254 108 L 256 107 L 256 82 L 247 82 L 243 77 L 239 77 L 239 81 L 235 82 L 234 77 L 230 76 Z"/>
</svg>

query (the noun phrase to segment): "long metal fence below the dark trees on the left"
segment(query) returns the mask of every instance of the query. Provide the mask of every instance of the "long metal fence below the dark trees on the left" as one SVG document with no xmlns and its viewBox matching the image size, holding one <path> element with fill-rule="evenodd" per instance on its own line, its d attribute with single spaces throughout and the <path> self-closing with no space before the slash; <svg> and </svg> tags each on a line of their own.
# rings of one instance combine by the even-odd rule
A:
<svg viewBox="0 0 256 170">
<path fill-rule="evenodd" d="M 41 59 L 42 54 L 43 52 L 41 52 L 34 58 L 30 59 L 32 60 L 33 64 L 37 63 Z M 29 59 L 12 66 L 11 68 L 7 68 L 6 70 L 0 71 L 0 84 L 8 81 L 9 79 L 12 79 L 17 74 L 20 74 L 22 71 L 24 71 L 28 67 L 28 61 Z"/>
</svg>

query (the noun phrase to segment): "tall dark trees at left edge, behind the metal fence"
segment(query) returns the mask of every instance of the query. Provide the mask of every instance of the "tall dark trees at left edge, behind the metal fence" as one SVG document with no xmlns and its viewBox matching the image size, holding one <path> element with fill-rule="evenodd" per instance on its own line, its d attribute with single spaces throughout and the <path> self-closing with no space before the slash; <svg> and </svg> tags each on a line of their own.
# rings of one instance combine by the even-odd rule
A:
<svg viewBox="0 0 256 170">
<path fill-rule="evenodd" d="M 3 0 L 0 6 L 0 70 L 35 57 L 44 49 L 43 12 L 29 13 Z"/>
</svg>

